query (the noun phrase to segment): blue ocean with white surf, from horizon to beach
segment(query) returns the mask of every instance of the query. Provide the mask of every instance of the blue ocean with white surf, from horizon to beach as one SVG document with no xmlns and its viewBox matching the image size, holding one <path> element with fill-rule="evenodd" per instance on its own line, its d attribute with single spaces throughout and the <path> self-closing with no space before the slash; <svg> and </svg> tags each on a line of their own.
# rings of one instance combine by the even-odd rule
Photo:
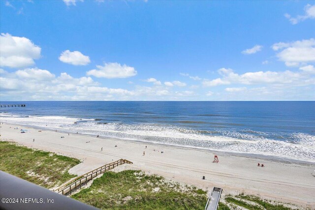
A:
<svg viewBox="0 0 315 210">
<path fill-rule="evenodd" d="M 126 141 L 315 162 L 314 101 L 1 101 L 19 103 L 26 107 L 2 107 L 0 120 Z"/>
</svg>

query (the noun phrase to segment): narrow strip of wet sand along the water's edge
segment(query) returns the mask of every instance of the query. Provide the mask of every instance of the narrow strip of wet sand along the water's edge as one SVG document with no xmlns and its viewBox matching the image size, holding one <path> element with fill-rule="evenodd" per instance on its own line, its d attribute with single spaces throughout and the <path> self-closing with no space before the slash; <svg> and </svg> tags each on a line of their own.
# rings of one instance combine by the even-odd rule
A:
<svg viewBox="0 0 315 210">
<path fill-rule="evenodd" d="M 26 128 L 33 128 L 33 129 L 41 129 L 41 130 L 48 130 L 54 132 L 56 129 L 52 128 L 45 128 L 41 126 L 36 125 L 25 125 L 25 124 L 15 124 L 15 123 L 9 123 L 4 122 L 5 124 L 10 124 L 14 126 L 24 126 Z M 70 131 L 63 131 L 63 130 L 57 130 L 57 133 L 71 133 L 81 136 L 90 136 L 95 137 L 95 135 L 92 134 L 85 134 L 85 133 L 75 133 Z M 255 153 L 241 153 L 241 152 L 233 152 L 233 151 L 220 151 L 220 150 L 211 150 L 211 149 L 204 149 L 204 148 L 197 148 L 197 147 L 186 147 L 183 145 L 168 145 L 168 144 L 161 144 L 161 143 L 154 143 L 154 142 L 146 142 L 146 141 L 140 141 L 140 140 L 134 140 L 134 139 L 123 139 L 123 138 L 116 138 L 116 137 L 106 137 L 106 136 L 99 136 L 98 139 L 113 139 L 118 141 L 132 141 L 138 144 L 150 144 L 150 145 L 162 145 L 166 147 L 174 147 L 174 148 L 183 148 L 183 149 L 191 149 L 191 150 L 205 150 L 205 151 L 211 151 L 216 152 L 218 154 L 230 154 L 232 156 L 239 156 L 239 157 L 249 157 L 249 158 L 256 158 L 256 159 L 265 159 L 265 160 L 273 160 L 278 162 L 285 162 L 285 163 L 297 163 L 297 164 L 306 164 L 306 165 L 315 165 L 315 161 L 309 161 L 309 160 L 299 160 L 299 159 L 291 159 L 287 157 L 280 157 L 280 156 L 273 156 L 273 155 L 267 155 L 267 154 L 255 154 Z"/>
</svg>

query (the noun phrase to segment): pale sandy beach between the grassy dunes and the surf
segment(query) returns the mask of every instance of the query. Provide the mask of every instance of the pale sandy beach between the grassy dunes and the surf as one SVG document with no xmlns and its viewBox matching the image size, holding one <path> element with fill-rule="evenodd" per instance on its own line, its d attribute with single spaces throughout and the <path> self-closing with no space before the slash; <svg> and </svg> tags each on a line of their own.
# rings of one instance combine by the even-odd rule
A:
<svg viewBox="0 0 315 210">
<path fill-rule="evenodd" d="M 21 133 L 20 129 L 28 129 L 28 132 Z M 315 163 L 281 161 L 73 133 L 68 135 L 5 123 L 1 124 L 0 134 L 1 141 L 16 142 L 81 159 L 82 163 L 70 169 L 70 173 L 77 175 L 112 160 L 125 158 L 133 164 L 125 164 L 116 170 L 143 170 L 148 174 L 157 174 L 203 189 L 222 187 L 225 194 L 244 192 L 315 208 L 315 177 L 312 176 Z M 212 162 L 215 154 L 219 156 L 219 163 Z M 257 167 L 258 162 L 265 167 Z M 205 176 L 205 180 L 202 180 L 202 176 Z"/>
</svg>

